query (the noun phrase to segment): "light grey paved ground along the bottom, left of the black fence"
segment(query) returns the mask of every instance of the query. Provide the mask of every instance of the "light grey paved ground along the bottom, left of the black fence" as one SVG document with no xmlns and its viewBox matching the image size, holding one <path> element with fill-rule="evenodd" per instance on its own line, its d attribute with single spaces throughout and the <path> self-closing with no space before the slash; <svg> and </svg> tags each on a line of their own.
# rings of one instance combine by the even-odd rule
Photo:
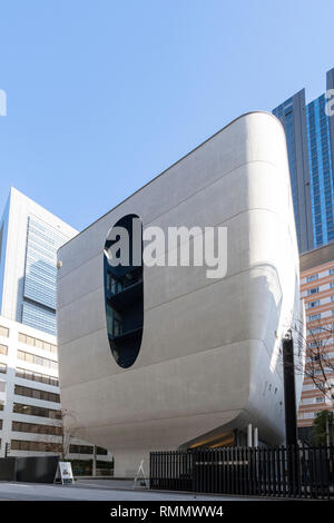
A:
<svg viewBox="0 0 334 523">
<path fill-rule="evenodd" d="M 0 482 L 0 501 L 245 501 L 245 497 L 138 491 L 130 482 L 81 480 L 73 485 Z M 249 500 L 249 499 L 247 499 Z"/>
</svg>

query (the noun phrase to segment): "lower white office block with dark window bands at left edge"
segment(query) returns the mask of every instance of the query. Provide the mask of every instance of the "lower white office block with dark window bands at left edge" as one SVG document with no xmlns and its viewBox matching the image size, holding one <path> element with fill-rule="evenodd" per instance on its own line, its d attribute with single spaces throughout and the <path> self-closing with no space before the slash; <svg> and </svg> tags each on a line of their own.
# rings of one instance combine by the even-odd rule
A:
<svg viewBox="0 0 334 523">
<path fill-rule="evenodd" d="M 56 337 L 0 316 L 0 456 L 92 458 L 92 445 L 77 440 L 75 427 L 63 434 L 62 417 L 70 415 L 60 405 Z M 104 448 L 97 457 L 110 461 Z"/>
</svg>

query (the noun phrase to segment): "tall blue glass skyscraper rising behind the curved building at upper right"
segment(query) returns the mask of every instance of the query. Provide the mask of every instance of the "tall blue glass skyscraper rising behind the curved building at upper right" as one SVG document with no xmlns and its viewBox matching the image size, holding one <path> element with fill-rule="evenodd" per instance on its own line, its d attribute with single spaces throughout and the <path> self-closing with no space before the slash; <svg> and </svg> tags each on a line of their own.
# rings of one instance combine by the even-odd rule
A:
<svg viewBox="0 0 334 523">
<path fill-rule="evenodd" d="M 327 89 L 334 87 L 334 69 Z M 301 253 L 334 239 L 334 117 L 325 112 L 325 95 L 306 105 L 305 89 L 273 114 L 285 129 L 298 247 Z"/>
</svg>

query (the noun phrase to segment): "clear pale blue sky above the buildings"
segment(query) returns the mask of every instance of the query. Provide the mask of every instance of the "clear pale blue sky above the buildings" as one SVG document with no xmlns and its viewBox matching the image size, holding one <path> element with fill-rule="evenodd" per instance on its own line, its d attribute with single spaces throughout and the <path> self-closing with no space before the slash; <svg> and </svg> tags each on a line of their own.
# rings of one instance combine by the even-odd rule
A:
<svg viewBox="0 0 334 523">
<path fill-rule="evenodd" d="M 0 1 L 0 208 L 82 229 L 228 121 L 334 67 L 333 0 Z"/>
</svg>

